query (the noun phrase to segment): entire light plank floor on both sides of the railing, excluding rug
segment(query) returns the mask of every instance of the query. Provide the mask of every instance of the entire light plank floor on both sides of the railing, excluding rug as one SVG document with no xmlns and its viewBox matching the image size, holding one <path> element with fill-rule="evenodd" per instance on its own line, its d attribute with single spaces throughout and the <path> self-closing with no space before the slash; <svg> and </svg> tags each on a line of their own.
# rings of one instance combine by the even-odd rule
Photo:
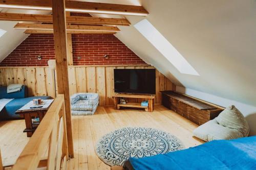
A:
<svg viewBox="0 0 256 170">
<path fill-rule="evenodd" d="M 122 127 L 152 127 L 172 133 L 185 147 L 193 147 L 202 141 L 192 135 L 197 127 L 186 118 L 156 105 L 155 111 L 114 110 L 113 107 L 98 107 L 92 116 L 73 116 L 73 139 L 75 158 L 68 161 L 67 169 L 110 169 L 95 153 L 95 144 L 106 133 Z M 24 120 L 0 122 L 0 147 L 4 165 L 13 164 L 28 142 Z"/>
</svg>

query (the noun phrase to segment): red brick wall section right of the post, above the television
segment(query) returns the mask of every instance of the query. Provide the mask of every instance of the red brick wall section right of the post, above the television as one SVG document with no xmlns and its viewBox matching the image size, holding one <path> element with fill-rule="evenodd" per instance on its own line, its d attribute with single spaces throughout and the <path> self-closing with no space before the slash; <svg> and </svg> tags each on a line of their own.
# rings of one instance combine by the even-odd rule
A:
<svg viewBox="0 0 256 170">
<path fill-rule="evenodd" d="M 144 63 L 114 35 L 75 34 L 72 46 L 74 65 Z M 109 55 L 109 59 L 104 59 L 104 55 Z"/>
</svg>

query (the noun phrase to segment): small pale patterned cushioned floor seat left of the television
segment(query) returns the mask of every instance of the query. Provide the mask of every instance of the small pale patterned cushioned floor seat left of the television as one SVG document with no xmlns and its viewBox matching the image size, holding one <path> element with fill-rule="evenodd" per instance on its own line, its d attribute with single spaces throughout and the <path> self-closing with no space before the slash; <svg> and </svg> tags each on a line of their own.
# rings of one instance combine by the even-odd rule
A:
<svg viewBox="0 0 256 170">
<path fill-rule="evenodd" d="M 99 104 L 98 93 L 75 93 L 70 98 L 72 115 L 92 115 Z"/>
</svg>

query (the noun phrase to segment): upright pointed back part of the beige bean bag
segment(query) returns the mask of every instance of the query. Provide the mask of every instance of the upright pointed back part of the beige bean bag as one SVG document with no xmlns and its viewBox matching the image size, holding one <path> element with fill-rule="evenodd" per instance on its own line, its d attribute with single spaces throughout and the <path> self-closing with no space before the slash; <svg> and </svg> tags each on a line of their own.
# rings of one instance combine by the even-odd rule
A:
<svg viewBox="0 0 256 170">
<path fill-rule="evenodd" d="M 229 106 L 223 110 L 216 118 L 218 124 L 239 130 L 244 136 L 249 134 L 248 123 L 243 114 L 234 106 Z"/>
</svg>

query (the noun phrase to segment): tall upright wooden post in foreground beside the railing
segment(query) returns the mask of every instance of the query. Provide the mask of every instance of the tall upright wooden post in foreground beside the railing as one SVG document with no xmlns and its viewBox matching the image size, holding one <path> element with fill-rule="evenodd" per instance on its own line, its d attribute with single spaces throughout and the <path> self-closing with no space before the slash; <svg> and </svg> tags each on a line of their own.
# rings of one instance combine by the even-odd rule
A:
<svg viewBox="0 0 256 170">
<path fill-rule="evenodd" d="M 52 0 L 53 34 L 58 93 L 64 94 L 69 156 L 74 157 L 67 60 L 65 0 Z"/>
</svg>

